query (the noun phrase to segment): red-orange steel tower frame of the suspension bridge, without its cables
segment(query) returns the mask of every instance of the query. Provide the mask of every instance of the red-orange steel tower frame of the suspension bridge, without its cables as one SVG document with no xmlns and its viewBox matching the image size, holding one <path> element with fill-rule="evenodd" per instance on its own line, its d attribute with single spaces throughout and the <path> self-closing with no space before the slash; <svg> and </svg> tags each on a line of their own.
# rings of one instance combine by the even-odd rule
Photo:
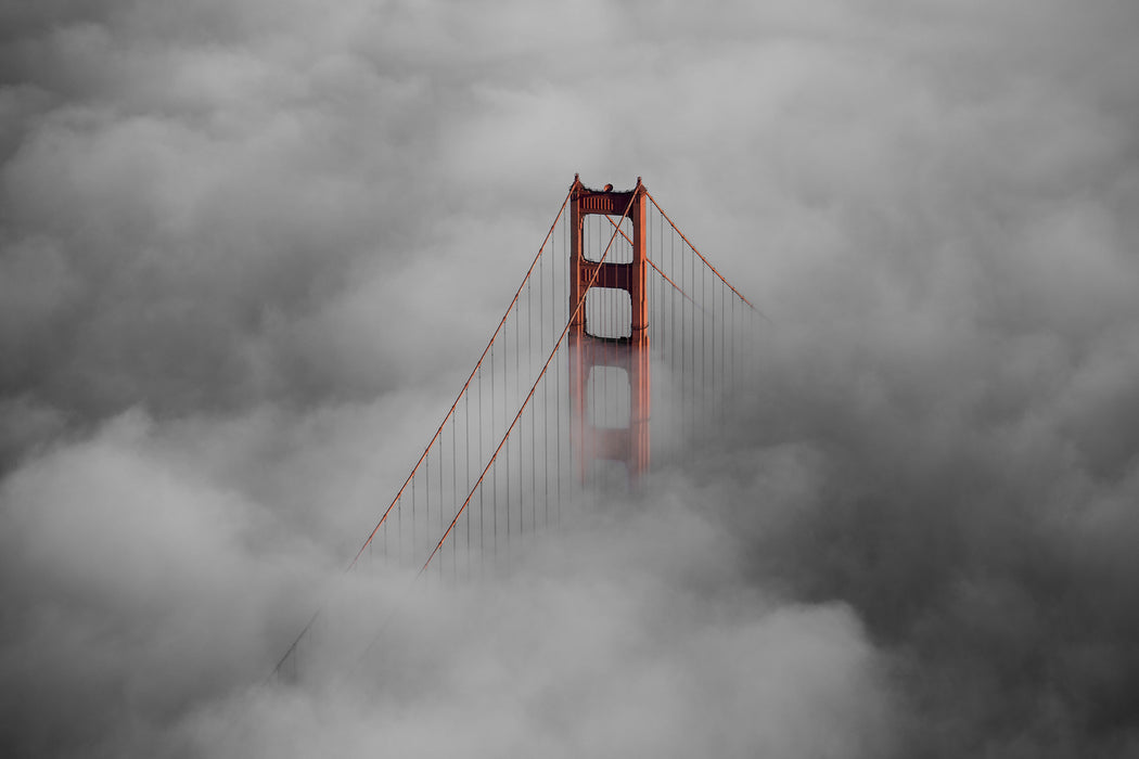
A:
<svg viewBox="0 0 1139 759">
<path fill-rule="evenodd" d="M 648 192 L 637 178 L 632 190 L 615 191 L 587 188 L 574 175 L 570 188 L 570 398 L 573 412 L 574 448 L 579 476 L 585 479 L 598 460 L 623 462 L 629 478 L 636 481 L 649 465 L 649 339 L 647 288 Z M 617 225 L 629 218 L 632 225 L 632 261 L 608 263 L 589 261 L 584 254 L 585 216 L 600 214 Z M 624 234 L 622 232 L 622 234 Z M 628 239 L 628 236 L 625 236 Z M 584 299 L 591 288 L 609 288 L 629 294 L 630 314 L 626 337 L 601 337 L 591 331 Z M 629 424 L 624 428 L 595 427 L 587 416 L 590 372 L 613 366 L 629 378 Z"/>
</svg>

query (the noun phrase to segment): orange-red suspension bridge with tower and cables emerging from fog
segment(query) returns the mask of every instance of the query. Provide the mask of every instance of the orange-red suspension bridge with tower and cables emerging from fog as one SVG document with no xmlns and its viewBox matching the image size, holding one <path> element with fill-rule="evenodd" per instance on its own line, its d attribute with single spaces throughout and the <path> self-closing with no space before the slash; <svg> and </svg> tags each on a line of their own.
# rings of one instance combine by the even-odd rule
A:
<svg viewBox="0 0 1139 759">
<path fill-rule="evenodd" d="M 575 175 L 486 347 L 345 571 L 472 577 L 719 435 L 764 320 L 641 179 Z M 328 604 L 274 669 L 297 677 Z"/>
</svg>

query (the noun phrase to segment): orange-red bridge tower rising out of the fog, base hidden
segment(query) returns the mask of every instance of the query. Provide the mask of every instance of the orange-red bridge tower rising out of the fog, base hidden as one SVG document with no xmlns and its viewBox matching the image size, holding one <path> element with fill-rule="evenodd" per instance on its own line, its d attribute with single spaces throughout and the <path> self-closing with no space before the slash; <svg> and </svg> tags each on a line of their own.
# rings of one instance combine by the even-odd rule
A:
<svg viewBox="0 0 1139 759">
<path fill-rule="evenodd" d="M 640 178 L 632 190 L 612 184 L 592 190 L 574 176 L 570 188 L 570 401 L 579 477 L 585 480 L 597 461 L 624 463 L 630 481 L 649 465 L 649 332 L 646 256 L 646 191 Z M 612 220 L 617 229 L 629 222 L 629 261 L 598 261 L 588 256 L 584 222 L 590 214 Z M 606 372 L 606 381 L 599 373 Z M 598 394 L 621 394 L 616 405 L 628 409 L 623 426 L 599 426 Z M 612 389 L 609 388 L 612 386 Z"/>
</svg>

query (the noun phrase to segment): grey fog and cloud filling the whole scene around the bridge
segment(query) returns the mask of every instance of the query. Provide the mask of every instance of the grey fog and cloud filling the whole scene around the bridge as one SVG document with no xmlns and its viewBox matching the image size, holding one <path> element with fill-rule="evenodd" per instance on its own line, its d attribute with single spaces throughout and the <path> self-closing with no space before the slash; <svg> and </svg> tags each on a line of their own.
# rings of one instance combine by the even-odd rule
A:
<svg viewBox="0 0 1139 759">
<path fill-rule="evenodd" d="M 1134 756 L 1137 35 L 1130 0 L 7 3 L 5 753 Z M 731 445 L 264 686 L 575 172 L 644 176 L 771 319 Z"/>
</svg>

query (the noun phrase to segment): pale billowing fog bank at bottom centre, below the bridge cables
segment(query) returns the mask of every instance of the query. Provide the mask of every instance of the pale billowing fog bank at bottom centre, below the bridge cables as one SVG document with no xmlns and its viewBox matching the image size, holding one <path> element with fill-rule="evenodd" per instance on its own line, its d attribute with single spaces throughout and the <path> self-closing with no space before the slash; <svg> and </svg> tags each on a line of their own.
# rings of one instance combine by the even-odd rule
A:
<svg viewBox="0 0 1139 759">
<path fill-rule="evenodd" d="M 499 583 L 420 584 L 368 655 L 357 642 L 330 675 L 326 651 L 305 687 L 255 688 L 187 729 L 243 756 L 886 750 L 888 691 L 850 609 L 693 586 L 722 538 L 657 506 L 562 535 L 552 562 Z"/>
</svg>

